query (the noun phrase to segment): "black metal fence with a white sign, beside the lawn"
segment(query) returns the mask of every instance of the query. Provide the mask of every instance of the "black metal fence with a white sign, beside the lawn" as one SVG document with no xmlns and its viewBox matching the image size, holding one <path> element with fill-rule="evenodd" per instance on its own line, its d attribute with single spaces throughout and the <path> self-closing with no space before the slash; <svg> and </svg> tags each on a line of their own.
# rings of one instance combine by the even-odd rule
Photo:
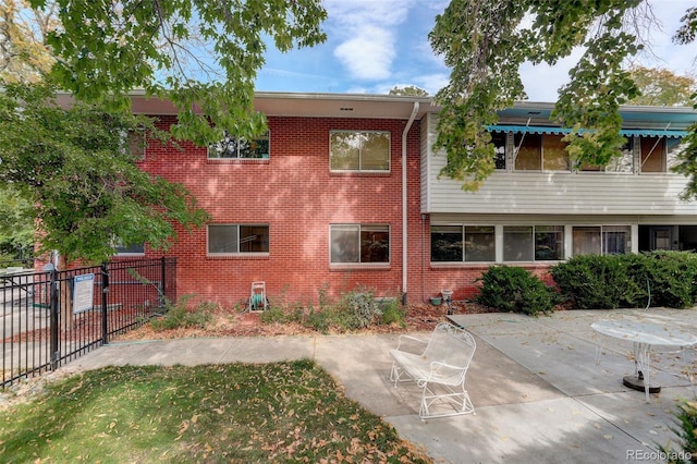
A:
<svg viewBox="0 0 697 464">
<path fill-rule="evenodd" d="M 175 258 L 0 270 L 0 387 L 53 370 L 139 327 L 166 301 L 176 301 Z"/>
</svg>

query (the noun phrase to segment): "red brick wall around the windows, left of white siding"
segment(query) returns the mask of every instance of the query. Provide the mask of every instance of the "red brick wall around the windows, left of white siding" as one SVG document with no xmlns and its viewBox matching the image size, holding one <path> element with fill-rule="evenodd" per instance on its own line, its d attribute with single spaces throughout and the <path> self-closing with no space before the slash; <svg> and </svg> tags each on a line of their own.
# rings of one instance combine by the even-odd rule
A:
<svg viewBox="0 0 697 464">
<path fill-rule="evenodd" d="M 173 118 L 160 118 L 169 127 Z M 268 223 L 268 257 L 208 257 L 206 230 L 180 232 L 168 255 L 179 257 L 179 294 L 196 293 L 225 306 L 243 302 L 253 281 L 265 281 L 269 298 L 288 303 L 318 301 L 319 290 L 337 296 L 365 284 L 379 294 L 402 291 L 402 131 L 403 120 L 273 118 L 268 120 L 268 160 L 207 160 L 205 147 L 181 142 L 150 146 L 142 167 L 181 182 L 216 223 Z M 389 174 L 329 171 L 332 130 L 389 131 Z M 419 125 L 408 135 L 411 243 L 420 244 Z M 390 224 L 390 265 L 337 269 L 329 265 L 332 223 Z M 420 248 L 409 251 L 409 257 Z M 159 253 L 148 251 L 148 256 Z M 409 264 L 409 281 L 420 262 Z"/>
</svg>

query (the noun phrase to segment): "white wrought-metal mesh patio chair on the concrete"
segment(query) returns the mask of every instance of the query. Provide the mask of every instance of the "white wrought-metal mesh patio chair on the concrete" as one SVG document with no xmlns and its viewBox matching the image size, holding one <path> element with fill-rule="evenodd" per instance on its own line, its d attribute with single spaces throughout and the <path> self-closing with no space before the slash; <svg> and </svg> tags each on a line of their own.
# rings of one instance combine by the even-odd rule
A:
<svg viewBox="0 0 697 464">
<path fill-rule="evenodd" d="M 406 351 L 403 346 L 407 342 L 420 350 Z M 448 322 L 439 323 L 429 340 L 400 335 L 398 347 L 390 351 L 393 359 L 390 380 L 394 387 L 399 381 L 416 381 L 421 389 L 418 415 L 423 419 L 474 414 L 465 378 L 476 349 L 469 332 Z"/>
</svg>

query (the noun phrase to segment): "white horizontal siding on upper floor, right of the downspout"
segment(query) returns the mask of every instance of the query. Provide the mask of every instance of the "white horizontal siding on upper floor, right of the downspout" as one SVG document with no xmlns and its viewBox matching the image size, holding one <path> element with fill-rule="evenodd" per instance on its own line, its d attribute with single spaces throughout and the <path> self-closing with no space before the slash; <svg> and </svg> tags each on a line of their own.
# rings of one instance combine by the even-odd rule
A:
<svg viewBox="0 0 697 464">
<path fill-rule="evenodd" d="M 421 162 L 421 212 L 535 215 L 695 215 L 678 197 L 687 179 L 674 173 L 494 171 L 477 192 L 438 179 L 444 154 L 433 154 L 436 118 L 428 118 L 428 150 Z"/>
</svg>

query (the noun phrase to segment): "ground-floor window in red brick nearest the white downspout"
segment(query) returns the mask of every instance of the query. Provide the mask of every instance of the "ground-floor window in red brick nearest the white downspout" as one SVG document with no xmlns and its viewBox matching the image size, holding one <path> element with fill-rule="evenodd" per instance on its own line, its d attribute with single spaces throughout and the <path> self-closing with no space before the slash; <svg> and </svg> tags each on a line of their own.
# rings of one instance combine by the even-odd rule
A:
<svg viewBox="0 0 697 464">
<path fill-rule="evenodd" d="M 329 240 L 331 264 L 390 262 L 388 224 L 334 224 Z"/>
</svg>

